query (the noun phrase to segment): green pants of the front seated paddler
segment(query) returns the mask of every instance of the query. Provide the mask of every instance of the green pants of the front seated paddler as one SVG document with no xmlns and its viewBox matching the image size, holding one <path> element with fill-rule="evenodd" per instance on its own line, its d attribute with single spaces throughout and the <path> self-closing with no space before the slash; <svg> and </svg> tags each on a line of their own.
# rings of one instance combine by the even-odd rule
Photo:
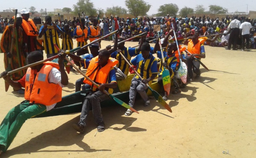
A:
<svg viewBox="0 0 256 158">
<path fill-rule="evenodd" d="M 23 101 L 12 108 L 0 125 L 0 150 L 6 152 L 27 119 L 44 112 L 46 112 L 45 105 L 29 105 L 29 101 Z"/>
</svg>

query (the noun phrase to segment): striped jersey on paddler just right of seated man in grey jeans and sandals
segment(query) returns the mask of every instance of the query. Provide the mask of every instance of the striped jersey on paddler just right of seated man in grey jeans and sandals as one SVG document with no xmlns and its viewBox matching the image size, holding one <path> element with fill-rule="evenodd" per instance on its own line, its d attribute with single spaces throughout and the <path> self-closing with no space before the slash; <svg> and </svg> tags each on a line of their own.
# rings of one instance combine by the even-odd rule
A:
<svg viewBox="0 0 256 158">
<path fill-rule="evenodd" d="M 157 57 L 160 58 L 160 66 L 159 66 L 159 73 L 158 75 L 162 75 L 163 72 L 163 62 L 162 62 L 162 54 L 161 51 L 157 51 Z M 167 63 L 167 65 L 172 68 L 172 72 L 175 71 L 176 69 L 176 65 L 177 65 L 177 58 L 175 56 L 175 54 L 173 53 L 172 55 L 167 55 L 167 52 L 164 51 L 163 52 L 163 57 L 164 57 L 164 62 Z M 172 74 L 170 74 L 171 78 L 172 78 Z"/>
</svg>

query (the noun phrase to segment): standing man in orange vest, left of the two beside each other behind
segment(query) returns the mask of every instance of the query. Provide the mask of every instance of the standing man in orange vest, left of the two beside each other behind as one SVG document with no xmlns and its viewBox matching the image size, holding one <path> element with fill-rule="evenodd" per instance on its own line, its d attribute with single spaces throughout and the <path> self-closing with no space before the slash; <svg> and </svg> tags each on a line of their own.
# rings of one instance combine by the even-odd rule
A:
<svg viewBox="0 0 256 158">
<path fill-rule="evenodd" d="M 84 30 L 82 30 L 84 29 Z M 76 26 L 76 29 L 74 31 L 74 38 L 77 41 L 77 47 L 83 47 L 84 45 L 87 45 L 87 40 L 88 40 L 88 28 L 85 26 L 85 20 L 84 18 L 81 18 L 81 24 Z M 77 55 L 83 55 L 88 53 L 88 48 L 80 49 L 77 52 Z"/>
</svg>

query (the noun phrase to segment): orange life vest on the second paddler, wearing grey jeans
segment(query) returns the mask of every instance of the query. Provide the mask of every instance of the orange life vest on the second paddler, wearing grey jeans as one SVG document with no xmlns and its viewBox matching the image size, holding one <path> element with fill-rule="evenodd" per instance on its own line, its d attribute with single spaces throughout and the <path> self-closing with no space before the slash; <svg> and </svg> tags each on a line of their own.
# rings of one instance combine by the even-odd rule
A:
<svg viewBox="0 0 256 158">
<path fill-rule="evenodd" d="M 96 82 L 97 84 L 107 83 L 108 74 L 111 68 L 113 68 L 118 61 L 114 58 L 109 58 L 108 63 L 100 68 L 98 64 L 98 56 L 91 59 L 90 64 L 86 71 L 86 76 L 88 76 L 91 80 Z M 89 85 L 92 85 L 90 81 L 88 81 L 86 78 L 84 78 L 84 83 L 87 83 Z M 96 86 L 93 86 L 96 87 Z"/>
</svg>

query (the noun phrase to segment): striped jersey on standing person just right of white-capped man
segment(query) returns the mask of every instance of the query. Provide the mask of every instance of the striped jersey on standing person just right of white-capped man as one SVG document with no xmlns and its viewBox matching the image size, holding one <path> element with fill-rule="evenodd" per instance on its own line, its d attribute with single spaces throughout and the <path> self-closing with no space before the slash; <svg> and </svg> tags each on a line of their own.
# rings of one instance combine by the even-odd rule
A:
<svg viewBox="0 0 256 158">
<path fill-rule="evenodd" d="M 58 27 L 58 25 L 56 25 L 56 26 Z M 44 25 L 41 26 L 41 28 L 39 30 L 39 34 L 43 28 L 44 28 Z M 61 29 L 61 28 L 59 28 L 59 29 Z M 46 28 L 44 30 L 44 50 L 45 50 L 46 54 L 58 53 L 58 50 L 54 47 L 54 44 L 56 44 L 58 46 L 58 48 L 61 48 L 58 36 L 59 36 L 58 31 L 55 30 L 54 28 L 52 28 L 52 29 Z"/>
</svg>

